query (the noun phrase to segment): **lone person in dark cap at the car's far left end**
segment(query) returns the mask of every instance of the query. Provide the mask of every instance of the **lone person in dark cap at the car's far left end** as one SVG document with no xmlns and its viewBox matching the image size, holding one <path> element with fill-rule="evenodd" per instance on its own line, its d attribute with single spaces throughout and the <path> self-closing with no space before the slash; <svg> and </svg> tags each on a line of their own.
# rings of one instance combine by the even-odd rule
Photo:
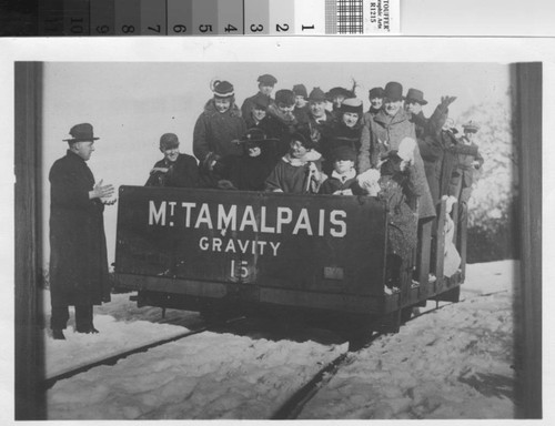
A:
<svg viewBox="0 0 555 426">
<path fill-rule="evenodd" d="M 199 166 L 192 155 L 179 152 L 179 139 L 174 133 L 160 138 L 160 151 L 164 158 L 150 171 L 147 186 L 195 187 L 199 186 Z"/>
</svg>

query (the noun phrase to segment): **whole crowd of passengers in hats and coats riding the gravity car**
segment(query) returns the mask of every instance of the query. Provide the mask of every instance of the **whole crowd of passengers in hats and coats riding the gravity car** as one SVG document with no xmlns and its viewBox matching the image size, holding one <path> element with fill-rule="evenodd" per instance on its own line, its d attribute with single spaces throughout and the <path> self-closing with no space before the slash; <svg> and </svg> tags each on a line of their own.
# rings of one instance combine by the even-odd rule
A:
<svg viewBox="0 0 555 426">
<path fill-rule="evenodd" d="M 212 81 L 213 97 L 194 125 L 194 158 L 179 152 L 175 134 L 163 134 L 164 158 L 147 185 L 381 196 L 391 225 L 390 264 L 406 274 L 417 222 L 435 217 L 443 195 L 460 203 L 465 220 L 484 160 L 473 141 L 480 126 L 465 123 L 458 136 L 448 119 L 455 97 L 442 97 L 426 118 L 424 93 L 411 88 L 403 94 L 395 81 L 370 90 L 366 112 L 354 88 L 309 93 L 295 84 L 272 97 L 273 75 L 258 83 L 258 93 L 239 108 L 233 84 Z"/>
</svg>

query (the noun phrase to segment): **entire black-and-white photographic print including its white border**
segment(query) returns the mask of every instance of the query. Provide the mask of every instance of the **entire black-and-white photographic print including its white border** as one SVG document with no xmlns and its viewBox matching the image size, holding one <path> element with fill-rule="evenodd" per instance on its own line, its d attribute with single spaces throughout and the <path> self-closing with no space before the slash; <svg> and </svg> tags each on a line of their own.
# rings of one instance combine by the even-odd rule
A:
<svg viewBox="0 0 555 426">
<path fill-rule="evenodd" d="M 552 40 L 17 44 L 16 419 L 545 418 Z"/>
</svg>

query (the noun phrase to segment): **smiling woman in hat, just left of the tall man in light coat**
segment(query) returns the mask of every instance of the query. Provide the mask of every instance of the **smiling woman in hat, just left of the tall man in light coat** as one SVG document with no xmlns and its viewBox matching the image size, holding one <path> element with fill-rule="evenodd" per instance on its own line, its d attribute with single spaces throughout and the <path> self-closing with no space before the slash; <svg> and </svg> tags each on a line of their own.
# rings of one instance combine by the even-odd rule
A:
<svg viewBox="0 0 555 426">
<path fill-rule="evenodd" d="M 327 138 L 321 143 L 321 153 L 324 156 L 324 173 L 333 170 L 332 152 L 339 146 L 349 146 L 355 153 L 361 148 L 362 132 L 362 101 L 356 98 L 345 99 L 339 109 L 339 120 L 331 126 Z M 356 160 L 356 159 L 355 159 Z"/>
</svg>

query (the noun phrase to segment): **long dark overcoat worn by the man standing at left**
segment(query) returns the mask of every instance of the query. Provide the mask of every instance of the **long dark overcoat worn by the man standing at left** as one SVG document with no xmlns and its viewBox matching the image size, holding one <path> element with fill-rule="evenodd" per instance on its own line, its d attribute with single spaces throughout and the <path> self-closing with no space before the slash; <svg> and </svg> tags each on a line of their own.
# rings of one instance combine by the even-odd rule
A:
<svg viewBox="0 0 555 426">
<path fill-rule="evenodd" d="M 68 151 L 50 169 L 50 293 L 52 306 L 110 301 L 104 205 L 89 200 L 91 170 Z"/>
</svg>

